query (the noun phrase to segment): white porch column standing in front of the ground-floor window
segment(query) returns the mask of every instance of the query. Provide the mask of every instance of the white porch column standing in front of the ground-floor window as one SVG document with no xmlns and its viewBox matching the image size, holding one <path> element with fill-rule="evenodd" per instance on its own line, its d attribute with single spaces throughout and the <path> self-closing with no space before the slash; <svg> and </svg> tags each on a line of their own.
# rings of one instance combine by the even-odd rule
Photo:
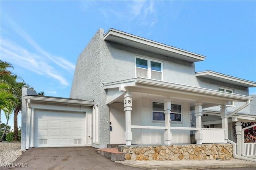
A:
<svg viewBox="0 0 256 170">
<path fill-rule="evenodd" d="M 165 144 L 171 144 L 172 133 L 171 133 L 171 113 L 172 113 L 172 103 L 170 99 L 164 100 L 164 114 L 165 114 L 165 126 L 167 129 L 164 132 Z"/>
</svg>

